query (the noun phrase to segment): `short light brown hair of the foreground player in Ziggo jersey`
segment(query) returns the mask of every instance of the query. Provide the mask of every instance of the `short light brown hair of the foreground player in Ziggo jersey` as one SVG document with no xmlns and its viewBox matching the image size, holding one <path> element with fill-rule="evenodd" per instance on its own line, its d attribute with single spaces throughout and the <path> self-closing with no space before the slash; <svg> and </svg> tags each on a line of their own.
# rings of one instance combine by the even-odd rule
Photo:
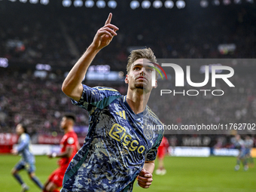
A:
<svg viewBox="0 0 256 192">
<path fill-rule="evenodd" d="M 132 50 L 130 56 L 128 56 L 128 63 L 126 66 L 127 74 L 129 74 L 133 62 L 135 62 L 137 59 L 148 59 L 151 62 L 157 62 L 157 58 L 154 56 L 151 48 Z"/>
</svg>

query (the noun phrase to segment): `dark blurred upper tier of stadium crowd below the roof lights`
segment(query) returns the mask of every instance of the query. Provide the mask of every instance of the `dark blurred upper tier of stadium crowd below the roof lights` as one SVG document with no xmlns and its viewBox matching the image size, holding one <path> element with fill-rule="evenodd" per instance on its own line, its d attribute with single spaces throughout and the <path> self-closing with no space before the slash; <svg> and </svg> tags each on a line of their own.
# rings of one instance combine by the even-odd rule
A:
<svg viewBox="0 0 256 192">
<path fill-rule="evenodd" d="M 55 11 L 19 3 L 12 6 L 14 11 L 2 6 L 1 14 L 8 19 L 2 20 L 0 26 L 1 56 L 54 66 L 72 66 L 111 11 Z M 99 53 L 94 63 L 108 63 L 112 70 L 123 70 L 130 46 L 151 47 L 157 58 L 254 58 L 253 7 L 237 5 L 193 11 L 115 9 L 112 22 L 120 28 L 117 38 L 110 48 Z M 230 54 L 221 53 L 219 44 L 235 44 L 236 49 Z"/>
</svg>

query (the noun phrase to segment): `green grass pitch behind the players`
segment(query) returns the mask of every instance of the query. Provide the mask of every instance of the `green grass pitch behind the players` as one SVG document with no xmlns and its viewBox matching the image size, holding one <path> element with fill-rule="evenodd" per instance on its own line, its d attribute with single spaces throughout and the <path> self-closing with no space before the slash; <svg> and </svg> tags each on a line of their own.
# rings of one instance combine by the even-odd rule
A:
<svg viewBox="0 0 256 192">
<path fill-rule="evenodd" d="M 0 156 L 0 191 L 20 191 L 20 184 L 11 176 L 12 167 L 20 160 L 19 156 Z M 36 175 L 44 183 L 56 169 L 57 159 L 46 156 L 36 157 Z M 254 162 L 256 162 L 254 160 Z M 174 191 L 174 192 L 255 192 L 256 167 L 244 172 L 234 171 L 235 157 L 166 157 L 166 175 L 153 175 L 153 184 L 142 189 L 134 184 L 134 192 Z M 157 166 L 157 161 L 156 161 Z M 26 171 L 20 172 L 32 192 L 40 190 L 29 180 Z"/>
</svg>

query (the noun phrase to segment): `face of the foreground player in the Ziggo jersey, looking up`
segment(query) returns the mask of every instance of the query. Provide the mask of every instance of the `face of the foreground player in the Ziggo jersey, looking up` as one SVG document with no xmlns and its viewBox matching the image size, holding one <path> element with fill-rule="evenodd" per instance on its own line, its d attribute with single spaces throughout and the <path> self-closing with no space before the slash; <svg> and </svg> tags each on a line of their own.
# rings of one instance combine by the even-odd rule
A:
<svg viewBox="0 0 256 192">
<path fill-rule="evenodd" d="M 133 62 L 130 72 L 126 75 L 125 82 L 131 90 L 141 89 L 146 93 L 152 90 L 152 72 L 154 66 L 148 59 L 137 59 Z M 157 81 L 156 81 L 157 83 Z"/>
</svg>

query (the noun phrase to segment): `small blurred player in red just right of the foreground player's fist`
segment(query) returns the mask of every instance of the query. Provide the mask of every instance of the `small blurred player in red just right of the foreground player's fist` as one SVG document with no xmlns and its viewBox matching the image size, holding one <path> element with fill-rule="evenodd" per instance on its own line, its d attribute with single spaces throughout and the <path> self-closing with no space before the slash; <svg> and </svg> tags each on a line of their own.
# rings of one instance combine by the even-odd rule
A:
<svg viewBox="0 0 256 192">
<path fill-rule="evenodd" d="M 166 174 L 166 169 L 164 168 L 163 165 L 163 159 L 168 152 L 168 147 L 169 147 L 169 142 L 166 137 L 163 137 L 163 140 L 157 150 L 157 158 L 158 158 L 158 168 L 156 170 L 157 175 L 165 175 Z"/>
</svg>

